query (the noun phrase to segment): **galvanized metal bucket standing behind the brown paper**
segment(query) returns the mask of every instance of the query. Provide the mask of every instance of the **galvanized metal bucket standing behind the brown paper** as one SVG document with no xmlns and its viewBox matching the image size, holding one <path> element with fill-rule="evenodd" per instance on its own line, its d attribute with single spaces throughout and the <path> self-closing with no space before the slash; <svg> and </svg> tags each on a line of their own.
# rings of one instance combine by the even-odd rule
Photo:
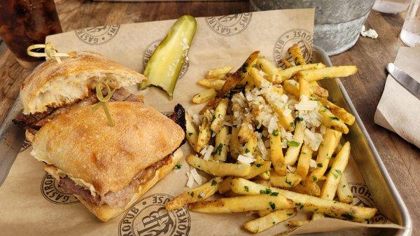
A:
<svg viewBox="0 0 420 236">
<path fill-rule="evenodd" d="M 252 11 L 315 8 L 314 44 L 328 55 L 342 53 L 358 40 L 374 0 L 250 0 Z"/>
</svg>

